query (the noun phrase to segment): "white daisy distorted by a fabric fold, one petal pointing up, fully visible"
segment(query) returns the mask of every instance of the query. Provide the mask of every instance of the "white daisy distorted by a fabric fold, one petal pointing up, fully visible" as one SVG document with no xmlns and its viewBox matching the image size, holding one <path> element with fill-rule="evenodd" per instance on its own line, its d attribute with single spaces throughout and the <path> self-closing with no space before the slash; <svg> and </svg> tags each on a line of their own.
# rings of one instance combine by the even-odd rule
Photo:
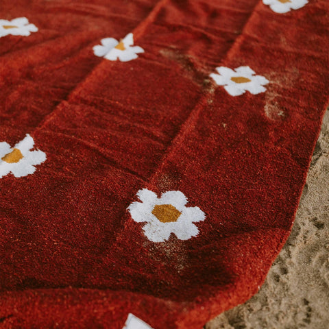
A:
<svg viewBox="0 0 329 329">
<path fill-rule="evenodd" d="M 132 33 L 127 34 L 125 38 L 118 41 L 114 38 L 101 39 L 101 45 L 93 47 L 96 56 L 106 58 L 107 60 L 121 60 L 129 62 L 138 58 L 137 53 L 143 53 L 144 49 L 134 46 Z"/>
</svg>

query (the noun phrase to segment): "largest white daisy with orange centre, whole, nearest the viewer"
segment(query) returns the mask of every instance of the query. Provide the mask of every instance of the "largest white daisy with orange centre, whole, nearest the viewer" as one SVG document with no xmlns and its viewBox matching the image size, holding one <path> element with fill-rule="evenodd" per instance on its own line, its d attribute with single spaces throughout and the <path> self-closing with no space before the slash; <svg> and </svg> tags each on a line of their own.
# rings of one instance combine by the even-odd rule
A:
<svg viewBox="0 0 329 329">
<path fill-rule="evenodd" d="M 158 198 L 156 193 L 144 188 L 137 196 L 141 202 L 133 202 L 128 210 L 137 223 L 147 222 L 143 231 L 153 242 L 166 241 L 171 233 L 180 240 L 191 239 L 199 233 L 193 222 L 206 218 L 198 207 L 185 206 L 187 199 L 180 191 L 169 191 Z"/>
</svg>

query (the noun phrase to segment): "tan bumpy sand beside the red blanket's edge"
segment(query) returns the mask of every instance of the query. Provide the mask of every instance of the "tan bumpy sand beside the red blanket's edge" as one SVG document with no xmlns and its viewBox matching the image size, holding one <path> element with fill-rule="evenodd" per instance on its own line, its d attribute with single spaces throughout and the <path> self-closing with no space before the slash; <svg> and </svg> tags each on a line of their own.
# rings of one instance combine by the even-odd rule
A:
<svg viewBox="0 0 329 329">
<path fill-rule="evenodd" d="M 205 329 L 329 328 L 329 110 L 293 230 L 263 287 Z"/>
</svg>

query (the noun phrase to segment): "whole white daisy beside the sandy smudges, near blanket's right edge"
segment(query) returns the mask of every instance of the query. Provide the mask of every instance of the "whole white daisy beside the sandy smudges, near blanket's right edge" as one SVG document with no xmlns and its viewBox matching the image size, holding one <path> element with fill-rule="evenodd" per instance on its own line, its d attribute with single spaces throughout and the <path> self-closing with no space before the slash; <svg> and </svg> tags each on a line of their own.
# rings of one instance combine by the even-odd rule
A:
<svg viewBox="0 0 329 329">
<path fill-rule="evenodd" d="M 254 75 L 255 72 L 249 66 L 240 66 L 234 71 L 228 67 L 220 66 L 216 68 L 219 74 L 211 73 L 210 77 L 231 96 L 240 96 L 246 91 L 253 95 L 264 93 L 266 88 L 263 87 L 269 83 L 265 77 Z"/>
</svg>

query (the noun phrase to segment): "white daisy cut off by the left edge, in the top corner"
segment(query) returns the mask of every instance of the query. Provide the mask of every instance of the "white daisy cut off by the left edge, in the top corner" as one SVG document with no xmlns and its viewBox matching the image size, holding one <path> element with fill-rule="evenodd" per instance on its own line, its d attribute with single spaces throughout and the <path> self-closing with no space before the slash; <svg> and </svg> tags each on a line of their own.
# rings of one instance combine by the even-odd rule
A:
<svg viewBox="0 0 329 329">
<path fill-rule="evenodd" d="M 34 24 L 29 24 L 26 17 L 19 17 L 18 19 L 12 19 L 12 21 L 6 21 L 0 19 L 0 38 L 2 36 L 29 36 L 31 32 L 37 32 L 38 27 Z"/>
</svg>

